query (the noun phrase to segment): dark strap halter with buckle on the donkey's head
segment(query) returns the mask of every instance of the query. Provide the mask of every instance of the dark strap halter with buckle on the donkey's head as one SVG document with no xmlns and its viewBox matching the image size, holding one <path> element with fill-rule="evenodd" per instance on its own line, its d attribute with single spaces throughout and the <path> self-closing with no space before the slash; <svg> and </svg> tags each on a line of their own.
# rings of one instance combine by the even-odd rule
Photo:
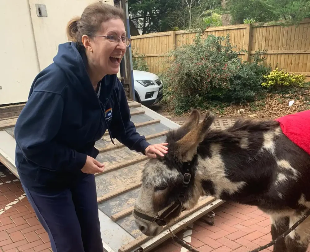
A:
<svg viewBox="0 0 310 252">
<path fill-rule="evenodd" d="M 194 161 L 194 160 L 193 160 Z M 169 215 L 171 215 L 172 213 L 175 212 L 175 210 L 177 210 L 179 208 L 179 206 L 181 206 L 182 210 L 184 210 L 183 204 L 185 201 L 185 193 L 186 190 L 188 188 L 188 184 L 191 180 L 191 168 L 193 166 L 193 161 L 191 163 L 184 163 L 183 167 L 187 164 L 188 167 L 185 168 L 185 170 L 187 170 L 187 172 L 185 172 L 183 174 L 183 185 L 182 185 L 182 189 L 180 192 L 180 195 L 178 197 L 178 201 L 174 202 L 171 206 L 169 206 L 168 208 L 166 208 L 161 214 L 158 214 L 154 217 L 143 214 L 138 212 L 137 210 L 134 209 L 134 214 L 144 220 L 150 221 L 150 222 L 155 222 L 158 226 L 166 226 L 167 223 L 164 219 L 166 219 Z M 183 169 L 184 170 L 184 169 Z"/>
</svg>

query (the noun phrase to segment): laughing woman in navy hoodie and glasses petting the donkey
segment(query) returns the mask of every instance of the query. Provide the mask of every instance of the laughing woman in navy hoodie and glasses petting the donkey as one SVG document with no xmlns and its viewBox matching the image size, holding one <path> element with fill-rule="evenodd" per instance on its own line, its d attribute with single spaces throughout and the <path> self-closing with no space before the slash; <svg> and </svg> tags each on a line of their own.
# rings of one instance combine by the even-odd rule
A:
<svg viewBox="0 0 310 252">
<path fill-rule="evenodd" d="M 130 121 L 116 75 L 130 42 L 123 11 L 91 4 L 68 23 L 67 36 L 73 42 L 36 76 L 16 122 L 15 163 L 52 250 L 101 252 L 94 174 L 104 164 L 95 141 L 108 130 L 111 140 L 152 158 L 168 148 L 150 145 Z"/>
</svg>

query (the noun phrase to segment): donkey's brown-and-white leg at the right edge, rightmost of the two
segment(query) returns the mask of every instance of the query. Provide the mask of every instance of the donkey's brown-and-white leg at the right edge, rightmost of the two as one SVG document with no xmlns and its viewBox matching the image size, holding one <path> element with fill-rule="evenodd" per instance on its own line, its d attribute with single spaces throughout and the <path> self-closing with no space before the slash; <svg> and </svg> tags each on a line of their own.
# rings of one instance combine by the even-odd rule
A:
<svg viewBox="0 0 310 252">
<path fill-rule="evenodd" d="M 291 216 L 290 227 L 293 226 L 302 216 Z M 310 238 L 310 218 L 305 219 L 297 228 L 290 232 L 285 239 L 289 252 L 306 252 Z"/>
</svg>

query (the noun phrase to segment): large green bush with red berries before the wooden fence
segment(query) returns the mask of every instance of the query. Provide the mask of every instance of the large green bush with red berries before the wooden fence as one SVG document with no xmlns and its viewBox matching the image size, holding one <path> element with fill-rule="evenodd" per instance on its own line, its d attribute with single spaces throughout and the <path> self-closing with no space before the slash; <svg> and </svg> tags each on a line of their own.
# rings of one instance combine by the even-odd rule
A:
<svg viewBox="0 0 310 252">
<path fill-rule="evenodd" d="M 244 51 L 244 50 L 242 50 Z M 241 52 L 241 51 L 240 51 Z M 210 102 L 246 102 L 263 90 L 262 76 L 270 72 L 257 53 L 253 63 L 241 62 L 227 37 L 196 37 L 191 45 L 176 49 L 176 59 L 161 76 L 164 101 L 176 113 L 206 108 Z"/>
</svg>

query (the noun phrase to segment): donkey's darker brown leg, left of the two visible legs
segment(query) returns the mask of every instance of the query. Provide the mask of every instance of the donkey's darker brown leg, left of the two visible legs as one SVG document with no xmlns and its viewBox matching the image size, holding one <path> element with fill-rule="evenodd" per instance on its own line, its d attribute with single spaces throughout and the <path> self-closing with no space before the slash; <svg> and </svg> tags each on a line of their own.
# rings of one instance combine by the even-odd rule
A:
<svg viewBox="0 0 310 252">
<path fill-rule="evenodd" d="M 272 240 L 275 240 L 289 229 L 290 218 L 288 216 L 271 215 L 270 220 Z M 273 245 L 273 252 L 288 252 L 284 239 L 277 241 L 276 244 Z"/>
</svg>

